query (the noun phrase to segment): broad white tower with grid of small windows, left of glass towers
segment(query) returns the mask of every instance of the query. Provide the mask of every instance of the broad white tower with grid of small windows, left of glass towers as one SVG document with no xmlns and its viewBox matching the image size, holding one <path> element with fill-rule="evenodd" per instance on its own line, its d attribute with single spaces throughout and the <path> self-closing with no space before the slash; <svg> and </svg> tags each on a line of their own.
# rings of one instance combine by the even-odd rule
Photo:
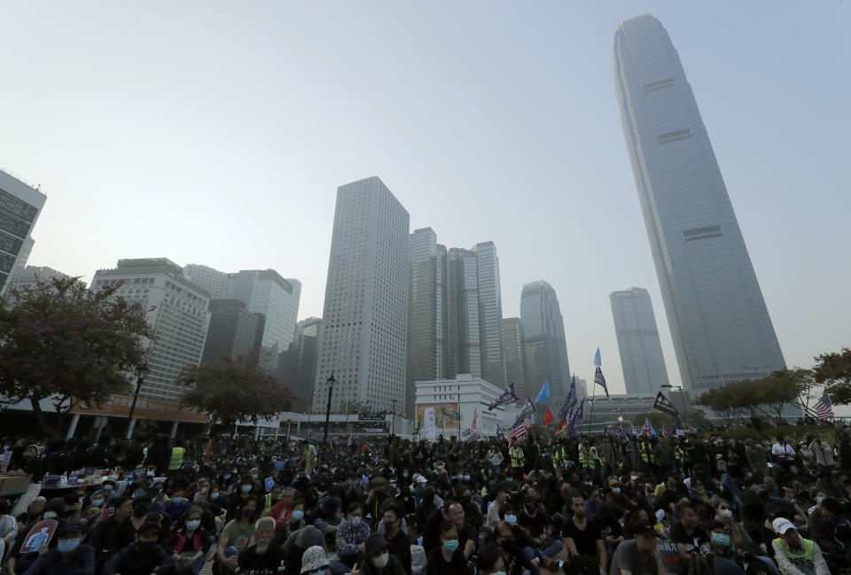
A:
<svg viewBox="0 0 851 575">
<path fill-rule="evenodd" d="M 378 177 L 340 186 L 331 240 L 314 408 L 347 398 L 405 405 L 409 215 Z"/>
</svg>

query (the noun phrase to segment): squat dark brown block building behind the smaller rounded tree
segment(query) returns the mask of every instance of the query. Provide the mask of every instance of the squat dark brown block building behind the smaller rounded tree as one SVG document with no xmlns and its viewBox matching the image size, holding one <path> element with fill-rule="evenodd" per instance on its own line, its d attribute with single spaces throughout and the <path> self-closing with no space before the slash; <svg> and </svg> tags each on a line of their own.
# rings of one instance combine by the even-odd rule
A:
<svg viewBox="0 0 851 575">
<path fill-rule="evenodd" d="M 201 363 L 222 365 L 246 354 L 260 357 L 265 316 L 252 314 L 238 299 L 211 299 L 209 310 L 210 325 Z"/>
</svg>

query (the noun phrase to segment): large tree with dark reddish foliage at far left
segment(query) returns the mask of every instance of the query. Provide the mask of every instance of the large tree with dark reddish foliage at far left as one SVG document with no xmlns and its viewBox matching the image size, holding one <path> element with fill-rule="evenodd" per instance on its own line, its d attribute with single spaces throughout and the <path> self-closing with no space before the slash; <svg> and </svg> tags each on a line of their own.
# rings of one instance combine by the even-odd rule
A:
<svg viewBox="0 0 851 575">
<path fill-rule="evenodd" d="M 99 405 L 127 392 L 153 339 L 146 310 L 113 298 L 115 284 L 98 292 L 75 277 L 39 282 L 0 300 L 0 403 L 29 401 L 44 433 L 59 437 L 64 416 L 80 404 Z M 40 402 L 53 400 L 56 427 Z"/>
</svg>

